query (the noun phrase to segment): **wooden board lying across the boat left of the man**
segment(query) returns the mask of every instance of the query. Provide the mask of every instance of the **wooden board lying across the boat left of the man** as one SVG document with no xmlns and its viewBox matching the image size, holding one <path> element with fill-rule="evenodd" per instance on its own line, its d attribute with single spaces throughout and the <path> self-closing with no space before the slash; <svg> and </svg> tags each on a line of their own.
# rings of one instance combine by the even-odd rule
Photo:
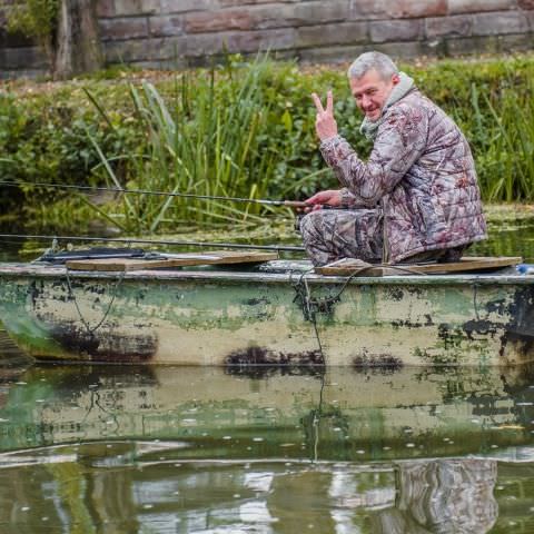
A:
<svg viewBox="0 0 534 534">
<path fill-rule="evenodd" d="M 71 259 L 66 263 L 71 270 L 140 270 L 160 269 L 174 267 L 191 267 L 196 265 L 228 265 L 228 264 L 251 264 L 277 259 L 276 253 L 256 251 L 229 251 L 217 250 L 209 253 L 184 253 L 166 254 L 155 259 L 139 258 L 99 258 L 99 259 Z"/>
</svg>

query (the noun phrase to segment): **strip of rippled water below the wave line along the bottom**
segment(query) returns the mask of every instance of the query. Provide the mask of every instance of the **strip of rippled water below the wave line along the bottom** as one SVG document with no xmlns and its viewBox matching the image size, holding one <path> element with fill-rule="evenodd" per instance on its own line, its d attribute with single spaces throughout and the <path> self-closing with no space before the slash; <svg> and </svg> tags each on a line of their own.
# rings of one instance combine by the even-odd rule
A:
<svg viewBox="0 0 534 534">
<path fill-rule="evenodd" d="M 534 527 L 524 496 L 532 497 L 532 466 L 531 478 L 523 469 L 508 478 L 487 458 L 176 462 L 164 447 L 142 448 L 101 443 L 40 451 L 40 458 L 4 454 L 2 532 L 481 534 L 503 532 L 511 517 L 520 525 L 513 532 Z M 506 511 L 496 488 L 511 483 L 521 491 Z"/>
</svg>

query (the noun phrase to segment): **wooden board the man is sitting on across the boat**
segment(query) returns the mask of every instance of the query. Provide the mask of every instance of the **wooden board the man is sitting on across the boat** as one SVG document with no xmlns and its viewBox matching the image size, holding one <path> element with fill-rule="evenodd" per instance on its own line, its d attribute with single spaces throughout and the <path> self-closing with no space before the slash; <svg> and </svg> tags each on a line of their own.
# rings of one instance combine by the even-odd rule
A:
<svg viewBox="0 0 534 534">
<path fill-rule="evenodd" d="M 327 276 L 390 276 L 390 275 L 429 275 L 468 273 L 478 270 L 494 270 L 521 264 L 521 257 L 477 257 L 465 256 L 459 261 L 449 264 L 397 264 L 395 266 L 369 266 L 366 267 L 355 258 L 343 258 L 323 267 L 316 267 L 315 271 Z"/>
</svg>

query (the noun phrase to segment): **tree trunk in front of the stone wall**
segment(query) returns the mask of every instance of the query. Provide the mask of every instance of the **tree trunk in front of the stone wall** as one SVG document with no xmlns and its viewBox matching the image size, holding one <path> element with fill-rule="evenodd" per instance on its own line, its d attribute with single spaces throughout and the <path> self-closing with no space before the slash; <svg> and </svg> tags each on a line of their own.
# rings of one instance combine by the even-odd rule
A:
<svg viewBox="0 0 534 534">
<path fill-rule="evenodd" d="M 61 0 L 53 78 L 71 78 L 102 66 L 96 0 Z"/>
</svg>

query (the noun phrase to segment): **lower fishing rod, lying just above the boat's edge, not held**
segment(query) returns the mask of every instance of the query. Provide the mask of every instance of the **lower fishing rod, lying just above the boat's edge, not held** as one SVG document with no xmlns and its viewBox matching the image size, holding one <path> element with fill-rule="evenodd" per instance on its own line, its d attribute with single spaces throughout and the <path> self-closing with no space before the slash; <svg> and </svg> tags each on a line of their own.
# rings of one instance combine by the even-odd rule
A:
<svg viewBox="0 0 534 534">
<path fill-rule="evenodd" d="M 125 244 L 142 244 L 142 245 L 172 245 L 184 247 L 210 247 L 210 248 L 245 248 L 258 250 L 274 250 L 288 253 L 303 253 L 304 247 L 275 246 L 275 245 L 243 245 L 237 243 L 199 243 L 199 241 L 179 241 L 175 239 L 136 239 L 119 237 L 88 237 L 88 236 L 44 236 L 29 234 L 0 234 L 0 238 L 13 239 L 57 239 L 58 241 L 101 241 L 101 243 L 125 243 Z"/>
</svg>

